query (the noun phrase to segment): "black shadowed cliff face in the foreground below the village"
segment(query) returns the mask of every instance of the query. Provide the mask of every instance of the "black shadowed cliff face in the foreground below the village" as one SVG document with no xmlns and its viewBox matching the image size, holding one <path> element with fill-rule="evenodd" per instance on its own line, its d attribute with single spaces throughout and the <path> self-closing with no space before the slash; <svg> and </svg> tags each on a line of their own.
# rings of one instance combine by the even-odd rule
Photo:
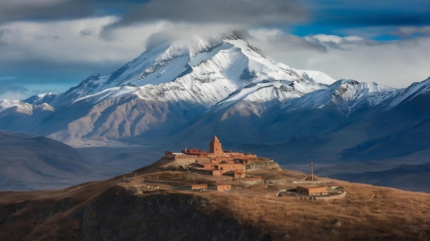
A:
<svg viewBox="0 0 430 241">
<path fill-rule="evenodd" d="M 111 188 L 82 216 L 82 240 L 263 240 L 264 233 L 206 208 L 193 194 L 135 196 Z"/>
</svg>

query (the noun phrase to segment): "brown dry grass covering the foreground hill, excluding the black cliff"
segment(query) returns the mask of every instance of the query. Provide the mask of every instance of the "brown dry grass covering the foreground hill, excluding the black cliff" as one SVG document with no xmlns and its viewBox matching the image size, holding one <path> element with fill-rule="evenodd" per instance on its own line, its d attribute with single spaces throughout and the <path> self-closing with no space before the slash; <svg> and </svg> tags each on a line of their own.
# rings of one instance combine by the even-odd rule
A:
<svg viewBox="0 0 430 241">
<path fill-rule="evenodd" d="M 148 170 L 139 170 L 140 173 L 142 175 L 126 182 L 122 180 L 124 176 L 120 176 L 65 190 L 0 192 L 0 206 L 27 203 L 25 208 L 13 214 L 20 216 L 20 212 L 28 212 L 26 223 L 19 226 L 23 230 L 29 231 L 34 222 L 41 222 L 42 225 L 34 228 L 32 232 L 49 231 L 46 228 L 53 227 L 57 220 L 70 220 L 68 223 L 54 225 L 56 230 L 73 229 L 79 232 L 79 220 L 67 218 L 78 207 L 88 205 L 111 186 L 135 188 L 142 185 L 145 179 L 150 179 L 160 181 L 162 191 L 166 194 L 205 196 L 209 200 L 204 207 L 207 213 L 234 217 L 245 226 L 266 231 L 275 240 L 430 240 L 430 194 L 320 178 L 322 181 L 331 182 L 332 186 L 343 186 L 348 192 L 346 198 L 335 201 L 302 201 L 294 197 L 275 196 L 280 189 L 295 188 L 293 184 L 245 187 L 229 177 L 194 175 L 179 171 L 150 173 Z M 259 170 L 252 175 L 293 179 L 303 177 L 303 173 L 285 170 Z M 194 182 L 210 183 L 212 186 L 216 183 L 231 183 L 234 188 L 230 192 L 189 192 L 169 188 L 170 182 L 182 183 L 183 186 Z M 144 192 L 142 195 L 151 195 L 151 192 Z M 65 201 L 71 203 L 69 210 L 58 212 L 47 220 L 32 216 L 37 212 L 34 210 Z M 2 232 L 5 237 L 7 231 L 0 230 L 0 234 Z"/>
</svg>

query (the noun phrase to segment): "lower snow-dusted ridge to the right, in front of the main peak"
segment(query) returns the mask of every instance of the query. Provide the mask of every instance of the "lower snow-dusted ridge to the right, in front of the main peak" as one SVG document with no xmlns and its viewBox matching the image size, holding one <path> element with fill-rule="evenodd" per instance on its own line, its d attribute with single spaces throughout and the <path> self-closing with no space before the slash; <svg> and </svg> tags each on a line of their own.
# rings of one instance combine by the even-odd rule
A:
<svg viewBox="0 0 430 241">
<path fill-rule="evenodd" d="M 376 106 L 389 110 L 403 100 L 398 98 L 398 95 L 402 95 L 403 98 L 409 95 L 403 93 L 404 91 L 376 83 L 359 83 L 346 79 L 341 79 L 330 85 L 307 79 L 292 83 L 262 81 L 240 88 L 211 107 L 210 110 L 229 108 L 231 112 L 231 110 L 246 108 L 261 116 L 265 110 L 269 110 L 274 105 L 290 113 L 297 110 L 313 110 L 326 105 L 334 105 L 336 110 L 348 116 L 357 110 Z"/>
</svg>

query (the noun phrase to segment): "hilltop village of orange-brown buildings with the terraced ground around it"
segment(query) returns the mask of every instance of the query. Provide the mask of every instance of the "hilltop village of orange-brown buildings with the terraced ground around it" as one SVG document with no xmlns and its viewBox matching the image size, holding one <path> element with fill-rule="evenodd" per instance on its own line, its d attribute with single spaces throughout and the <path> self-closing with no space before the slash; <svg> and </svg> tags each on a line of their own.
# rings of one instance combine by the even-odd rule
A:
<svg viewBox="0 0 430 241">
<path fill-rule="evenodd" d="M 147 189 L 163 187 L 168 190 L 237 192 L 242 188 L 260 186 L 270 187 L 276 196 L 306 200 L 332 200 L 346 196 L 343 188 L 327 186 L 328 181 L 313 174 L 308 176 L 283 170 L 273 160 L 252 153 L 225 151 L 217 136 L 210 141 L 209 151 L 187 148 L 180 152 L 166 151 L 152 166 L 136 170 L 135 179 L 139 179 L 137 173 L 140 173 L 142 182 L 151 183 L 144 185 Z M 135 187 L 137 192 L 142 192 L 142 185 Z"/>
</svg>

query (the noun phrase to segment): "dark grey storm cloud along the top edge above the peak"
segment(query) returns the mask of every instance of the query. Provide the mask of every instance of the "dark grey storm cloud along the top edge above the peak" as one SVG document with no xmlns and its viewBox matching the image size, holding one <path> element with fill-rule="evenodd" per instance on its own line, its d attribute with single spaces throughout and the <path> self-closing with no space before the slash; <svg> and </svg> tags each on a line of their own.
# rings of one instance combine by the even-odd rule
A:
<svg viewBox="0 0 430 241">
<path fill-rule="evenodd" d="M 295 0 L 152 0 L 139 5 L 113 26 L 159 20 L 258 25 L 297 23 L 305 19 L 304 6 Z"/>
</svg>

